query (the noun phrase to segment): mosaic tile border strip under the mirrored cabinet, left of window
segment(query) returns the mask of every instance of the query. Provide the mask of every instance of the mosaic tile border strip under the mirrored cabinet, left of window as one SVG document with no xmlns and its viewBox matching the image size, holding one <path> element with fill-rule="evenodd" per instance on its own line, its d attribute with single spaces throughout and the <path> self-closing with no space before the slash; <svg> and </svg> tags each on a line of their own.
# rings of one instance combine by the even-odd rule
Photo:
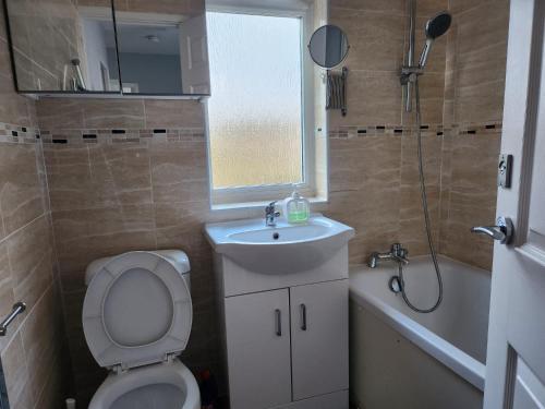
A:
<svg viewBox="0 0 545 409">
<path fill-rule="evenodd" d="M 82 145 L 82 144 L 119 144 L 148 142 L 204 141 L 202 128 L 175 129 L 80 129 L 41 131 L 45 144 Z"/>
</svg>

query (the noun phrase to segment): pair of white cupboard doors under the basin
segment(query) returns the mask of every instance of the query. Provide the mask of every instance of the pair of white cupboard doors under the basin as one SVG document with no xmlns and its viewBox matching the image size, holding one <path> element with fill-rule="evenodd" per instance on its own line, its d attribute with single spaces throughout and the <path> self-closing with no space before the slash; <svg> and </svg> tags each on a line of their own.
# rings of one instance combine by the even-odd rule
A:
<svg viewBox="0 0 545 409">
<path fill-rule="evenodd" d="M 231 408 L 348 389 L 348 279 L 226 298 L 225 324 Z"/>
</svg>

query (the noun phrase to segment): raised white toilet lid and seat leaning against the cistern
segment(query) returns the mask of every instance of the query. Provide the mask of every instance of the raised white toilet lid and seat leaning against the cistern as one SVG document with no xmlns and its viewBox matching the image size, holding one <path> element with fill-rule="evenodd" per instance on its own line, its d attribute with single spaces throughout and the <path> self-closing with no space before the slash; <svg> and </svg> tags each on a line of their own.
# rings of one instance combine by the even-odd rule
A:
<svg viewBox="0 0 545 409">
<path fill-rule="evenodd" d="M 83 304 L 90 352 L 106 368 L 160 362 L 185 349 L 191 294 L 168 258 L 131 252 L 111 258 L 93 277 Z"/>
</svg>

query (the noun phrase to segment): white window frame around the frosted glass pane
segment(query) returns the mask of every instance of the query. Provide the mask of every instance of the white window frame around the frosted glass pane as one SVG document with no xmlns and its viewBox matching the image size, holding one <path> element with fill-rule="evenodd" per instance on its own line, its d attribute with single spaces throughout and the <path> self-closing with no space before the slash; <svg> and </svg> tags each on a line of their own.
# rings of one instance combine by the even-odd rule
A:
<svg viewBox="0 0 545 409">
<path fill-rule="evenodd" d="M 306 10 L 275 10 L 266 8 L 239 8 L 231 5 L 207 5 L 206 12 L 251 14 L 275 17 L 291 17 L 301 20 L 301 116 L 302 116 L 302 176 L 298 191 L 311 201 L 317 201 L 315 136 L 314 136 L 314 65 L 308 56 L 306 44 L 313 33 L 313 8 Z M 213 185 L 213 167 L 210 157 L 210 133 L 208 98 L 204 103 L 205 132 L 208 160 L 208 188 L 210 208 L 228 209 L 240 207 L 257 207 L 275 200 L 289 196 L 293 183 L 262 184 L 254 187 L 219 188 Z"/>
</svg>

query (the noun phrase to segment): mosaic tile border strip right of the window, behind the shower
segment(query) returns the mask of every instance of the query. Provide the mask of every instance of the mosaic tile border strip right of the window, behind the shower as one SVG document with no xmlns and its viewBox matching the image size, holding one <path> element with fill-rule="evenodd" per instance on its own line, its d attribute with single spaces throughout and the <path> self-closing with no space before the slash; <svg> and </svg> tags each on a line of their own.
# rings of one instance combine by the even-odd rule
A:
<svg viewBox="0 0 545 409">
<path fill-rule="evenodd" d="M 402 136 L 413 134 L 414 125 L 362 125 L 362 127 L 338 127 L 329 130 L 330 139 L 351 139 L 365 136 Z M 443 136 L 447 132 L 458 135 L 474 135 L 483 133 L 501 132 L 501 122 L 463 123 L 444 127 L 441 124 L 422 124 L 421 130 L 424 135 L 436 134 Z"/>
</svg>

